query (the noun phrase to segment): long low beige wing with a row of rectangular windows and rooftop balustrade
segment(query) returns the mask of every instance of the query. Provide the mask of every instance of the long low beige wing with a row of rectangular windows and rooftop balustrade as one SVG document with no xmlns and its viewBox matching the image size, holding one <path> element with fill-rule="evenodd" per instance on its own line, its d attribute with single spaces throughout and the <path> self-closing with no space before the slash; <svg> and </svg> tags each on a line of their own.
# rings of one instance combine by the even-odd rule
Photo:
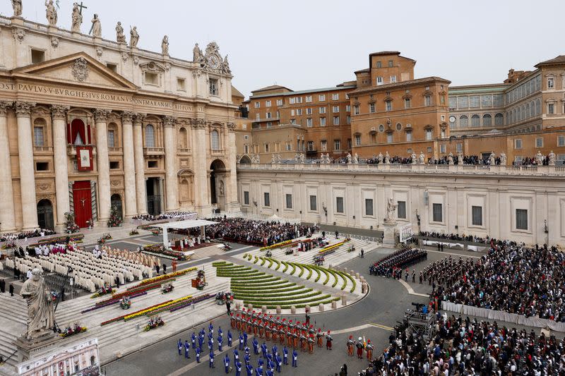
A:
<svg viewBox="0 0 565 376">
<path fill-rule="evenodd" d="M 383 229 L 398 226 L 512 239 L 565 241 L 564 166 L 239 164 L 242 212 Z"/>
</svg>

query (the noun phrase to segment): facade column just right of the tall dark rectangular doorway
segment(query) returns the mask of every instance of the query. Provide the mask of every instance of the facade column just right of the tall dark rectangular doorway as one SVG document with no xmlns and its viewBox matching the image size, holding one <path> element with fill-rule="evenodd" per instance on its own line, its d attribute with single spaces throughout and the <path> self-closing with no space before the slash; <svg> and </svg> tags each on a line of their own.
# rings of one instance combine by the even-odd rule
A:
<svg viewBox="0 0 565 376">
<path fill-rule="evenodd" d="M 165 116 L 165 178 L 167 179 L 167 212 L 179 209 L 179 179 L 177 178 L 177 143 L 174 137 L 174 117 Z"/>
</svg>

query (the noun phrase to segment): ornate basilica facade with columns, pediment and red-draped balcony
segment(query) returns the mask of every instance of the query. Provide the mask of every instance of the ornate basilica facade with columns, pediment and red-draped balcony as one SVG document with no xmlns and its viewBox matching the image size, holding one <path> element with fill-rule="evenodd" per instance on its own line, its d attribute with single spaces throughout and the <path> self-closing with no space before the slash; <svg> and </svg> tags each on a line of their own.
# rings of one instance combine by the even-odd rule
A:
<svg viewBox="0 0 565 376">
<path fill-rule="evenodd" d="M 62 226 L 66 212 L 105 225 L 111 205 L 126 219 L 238 210 L 237 106 L 218 44 L 184 61 L 119 28 L 114 42 L 0 17 L 1 232 Z"/>
</svg>

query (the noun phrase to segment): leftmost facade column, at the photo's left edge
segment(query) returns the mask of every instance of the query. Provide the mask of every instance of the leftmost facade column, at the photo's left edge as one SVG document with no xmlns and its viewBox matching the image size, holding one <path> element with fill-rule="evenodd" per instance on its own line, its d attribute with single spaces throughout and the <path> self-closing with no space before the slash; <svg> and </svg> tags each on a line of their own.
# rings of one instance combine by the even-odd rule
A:
<svg viewBox="0 0 565 376">
<path fill-rule="evenodd" d="M 13 207 L 12 164 L 8 145 L 8 108 L 12 102 L 0 102 L 0 234 L 16 230 Z"/>
</svg>

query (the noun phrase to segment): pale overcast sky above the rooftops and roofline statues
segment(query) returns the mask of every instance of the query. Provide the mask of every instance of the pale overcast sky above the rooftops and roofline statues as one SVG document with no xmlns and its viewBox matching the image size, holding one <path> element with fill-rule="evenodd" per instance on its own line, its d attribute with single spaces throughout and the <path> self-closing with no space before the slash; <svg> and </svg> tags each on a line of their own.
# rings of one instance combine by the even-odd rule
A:
<svg viewBox="0 0 565 376">
<path fill-rule="evenodd" d="M 501 83 L 509 68 L 565 54 L 563 0 L 83 0 L 82 30 L 93 13 L 102 36 L 115 40 L 118 20 L 137 25 L 138 47 L 192 59 L 198 42 L 229 54 L 233 85 L 246 97 L 259 87 L 292 90 L 331 87 L 367 68 L 368 54 L 397 50 L 417 60 L 416 78 L 430 75 L 452 85 Z M 70 29 L 73 1 L 59 0 L 59 25 Z M 12 15 L 11 1 L 0 13 Z M 23 0 L 23 16 L 47 23 L 44 0 Z"/>
</svg>

